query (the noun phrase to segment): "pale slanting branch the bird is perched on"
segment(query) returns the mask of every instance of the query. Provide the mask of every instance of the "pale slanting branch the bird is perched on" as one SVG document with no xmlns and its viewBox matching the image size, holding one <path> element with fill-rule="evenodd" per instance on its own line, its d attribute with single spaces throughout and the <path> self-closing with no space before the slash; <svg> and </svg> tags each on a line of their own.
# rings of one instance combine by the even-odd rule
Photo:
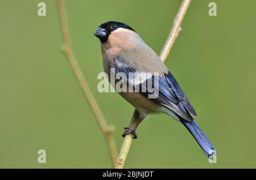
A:
<svg viewBox="0 0 256 180">
<path fill-rule="evenodd" d="M 179 11 L 177 12 L 176 18 L 172 25 L 170 34 L 167 37 L 166 43 L 164 44 L 163 49 L 159 55 L 160 59 L 163 62 L 166 61 L 166 58 L 167 58 L 168 54 L 170 53 L 172 45 L 174 44 L 174 41 L 176 40 L 176 37 L 179 34 L 179 31 L 181 29 L 180 24 L 184 18 L 185 12 L 187 11 L 187 8 L 188 8 L 190 2 L 191 2 L 191 0 L 183 0 L 183 2 L 180 5 Z M 133 117 L 131 118 L 130 126 L 136 120 L 138 121 L 138 115 L 135 112 L 136 112 L 136 110 L 134 111 Z M 115 169 L 123 168 L 123 165 L 125 164 L 125 160 L 128 155 L 132 140 L 133 140 L 132 135 L 125 136 L 125 139 L 123 140 L 123 144 L 122 144 L 121 150 L 119 152 L 117 161 L 115 163 Z"/>
</svg>

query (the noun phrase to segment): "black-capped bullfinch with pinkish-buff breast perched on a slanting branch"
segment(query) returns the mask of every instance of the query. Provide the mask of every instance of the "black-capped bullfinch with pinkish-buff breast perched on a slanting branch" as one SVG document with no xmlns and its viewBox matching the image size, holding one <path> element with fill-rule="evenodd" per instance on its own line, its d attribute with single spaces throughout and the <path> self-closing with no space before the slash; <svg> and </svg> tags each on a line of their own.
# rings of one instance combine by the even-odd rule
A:
<svg viewBox="0 0 256 180">
<path fill-rule="evenodd" d="M 148 114 L 165 113 L 187 128 L 205 155 L 216 155 L 216 149 L 193 118 L 197 116 L 195 109 L 171 71 L 133 28 L 125 23 L 109 21 L 98 26 L 94 36 L 101 42 L 105 73 L 109 77 L 123 74 L 112 85 L 122 80 L 128 84 L 128 90 L 140 88 L 140 91 L 118 92 L 135 107 L 134 114 L 139 117 L 132 126 L 125 127 L 123 137 L 132 134 L 134 139 L 138 138 L 136 129 Z M 129 76 L 131 73 L 134 75 Z M 144 82 L 152 83 L 156 95 Z M 154 97 L 149 98 L 150 95 Z"/>
</svg>

